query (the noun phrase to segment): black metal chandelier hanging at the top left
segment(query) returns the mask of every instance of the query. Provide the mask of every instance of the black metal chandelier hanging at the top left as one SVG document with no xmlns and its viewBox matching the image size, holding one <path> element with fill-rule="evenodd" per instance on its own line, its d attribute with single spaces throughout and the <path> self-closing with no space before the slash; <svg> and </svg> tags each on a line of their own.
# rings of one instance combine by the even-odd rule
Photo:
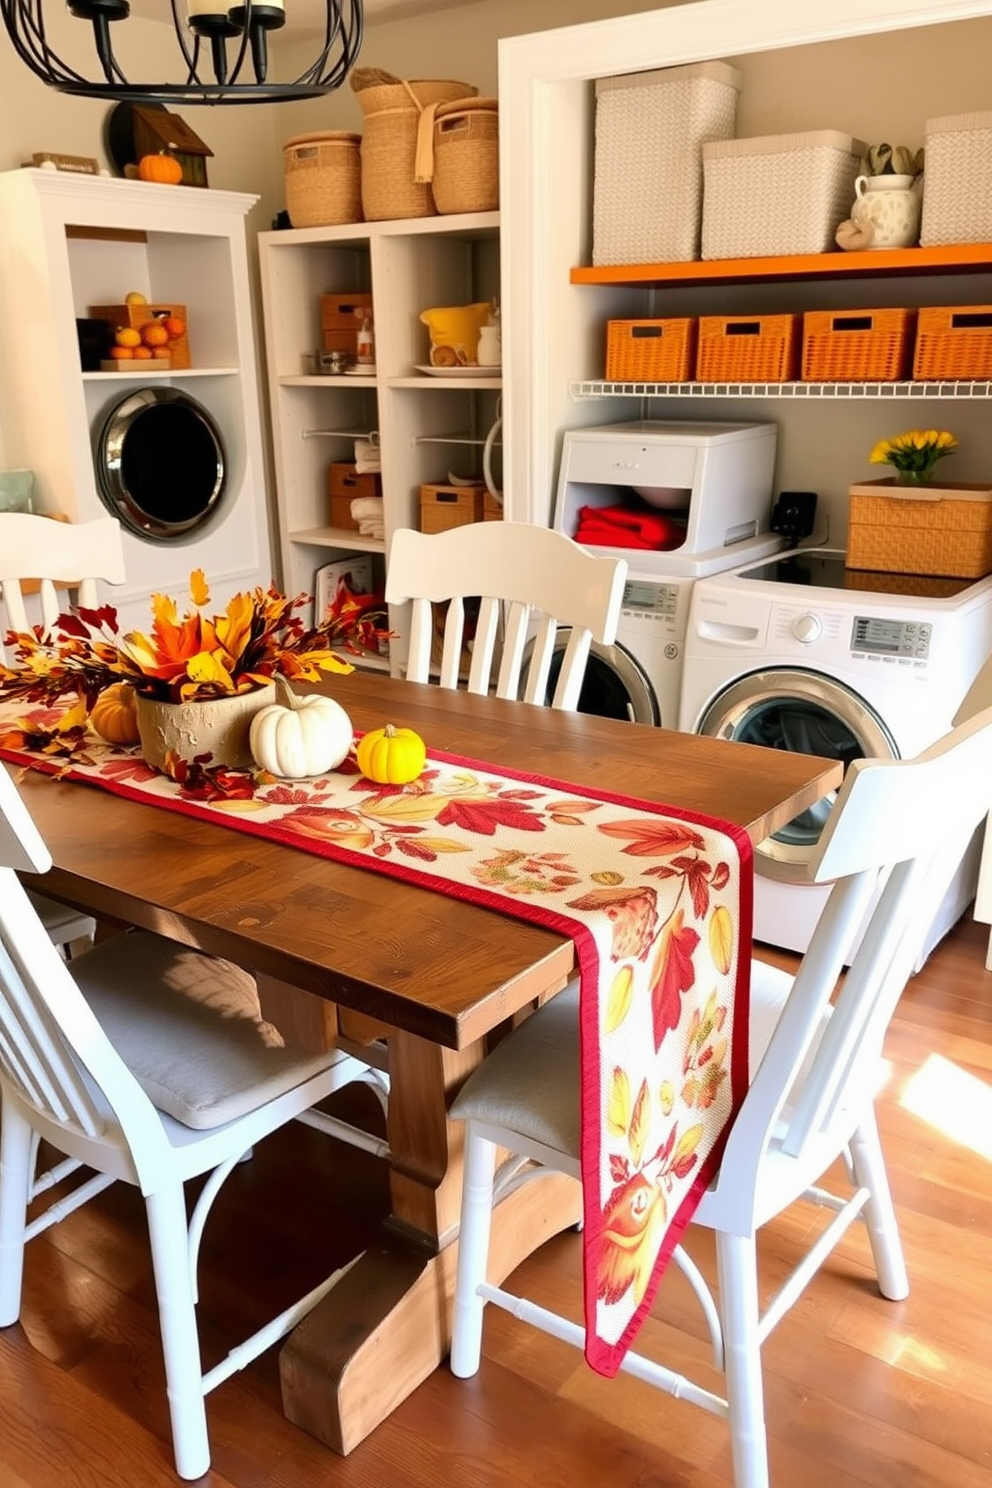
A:
<svg viewBox="0 0 992 1488">
<path fill-rule="evenodd" d="M 284 0 L 171 0 L 181 54 L 181 82 L 132 83 L 115 57 L 112 30 L 131 13 L 128 0 L 68 0 L 68 13 L 91 21 L 101 76 L 86 77 L 52 49 L 46 0 L 0 0 L 13 48 L 33 73 L 59 92 L 126 103 L 283 103 L 320 98 L 341 88 L 361 48 L 363 0 L 323 0 L 326 21 L 315 60 L 293 82 L 268 80 L 268 33 L 286 24 Z M 61 4 L 62 0 L 54 0 Z M 250 64 L 250 65 L 248 65 Z M 95 70 L 95 68 L 94 68 Z"/>
</svg>

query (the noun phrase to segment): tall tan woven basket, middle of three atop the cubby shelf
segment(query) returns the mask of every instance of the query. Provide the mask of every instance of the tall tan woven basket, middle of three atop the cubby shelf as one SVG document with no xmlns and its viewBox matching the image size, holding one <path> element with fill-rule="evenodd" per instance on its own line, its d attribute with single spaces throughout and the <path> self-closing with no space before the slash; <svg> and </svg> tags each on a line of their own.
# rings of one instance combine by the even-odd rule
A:
<svg viewBox="0 0 992 1488">
<path fill-rule="evenodd" d="M 433 217 L 430 180 L 437 104 L 474 98 L 471 83 L 413 77 L 355 67 L 350 77 L 364 115 L 361 210 L 367 222 Z"/>
</svg>

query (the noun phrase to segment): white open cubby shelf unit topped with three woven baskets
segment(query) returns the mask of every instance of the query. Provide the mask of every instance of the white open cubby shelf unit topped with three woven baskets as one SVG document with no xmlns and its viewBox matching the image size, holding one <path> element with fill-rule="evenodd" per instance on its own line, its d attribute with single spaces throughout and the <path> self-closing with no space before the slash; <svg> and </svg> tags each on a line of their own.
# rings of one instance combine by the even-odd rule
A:
<svg viewBox="0 0 992 1488">
<path fill-rule="evenodd" d="M 419 315 L 500 296 L 498 214 L 263 232 L 259 253 L 281 579 L 289 592 L 311 594 L 317 568 L 336 558 L 373 552 L 385 562 L 396 528 L 419 527 L 422 482 L 479 473 L 500 376 L 418 372 L 428 362 Z M 321 341 L 321 295 L 357 292 L 372 295 L 375 375 L 305 371 Z M 370 434 L 381 448 L 382 539 L 332 527 L 329 516 L 327 466 L 354 460 L 355 439 Z M 400 637 L 394 671 L 403 652 Z"/>
</svg>

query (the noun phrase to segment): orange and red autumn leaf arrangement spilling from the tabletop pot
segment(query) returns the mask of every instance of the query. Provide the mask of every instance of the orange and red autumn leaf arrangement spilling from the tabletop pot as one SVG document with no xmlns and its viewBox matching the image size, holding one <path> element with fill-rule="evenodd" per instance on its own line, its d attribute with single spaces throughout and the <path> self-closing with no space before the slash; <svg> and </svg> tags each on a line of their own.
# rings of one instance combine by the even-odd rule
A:
<svg viewBox="0 0 992 1488">
<path fill-rule="evenodd" d="M 36 704 L 34 719 L 19 720 L 27 747 L 74 754 L 86 740 L 86 719 L 110 686 L 126 683 L 164 702 L 228 698 L 254 692 L 277 676 L 317 682 L 324 673 L 350 673 L 339 655 L 363 655 L 388 637 L 385 615 L 367 595 L 342 589 L 317 626 L 300 612 L 305 594 L 287 598 L 275 588 L 236 594 L 220 615 L 205 613 L 210 588 L 202 568 L 190 574 L 189 607 L 152 595 L 152 629 L 122 632 L 113 606 L 79 607 L 59 615 L 51 632 L 40 626 L 10 632 L 10 664 L 0 664 L 0 701 Z M 52 713 L 65 698 L 76 702 Z"/>
</svg>

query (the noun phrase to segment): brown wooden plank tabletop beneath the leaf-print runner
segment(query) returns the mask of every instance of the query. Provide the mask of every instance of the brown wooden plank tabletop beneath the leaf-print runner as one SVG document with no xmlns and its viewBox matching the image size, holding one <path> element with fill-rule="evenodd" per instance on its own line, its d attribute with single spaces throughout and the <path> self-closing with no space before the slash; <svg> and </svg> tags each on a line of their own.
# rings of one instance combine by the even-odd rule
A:
<svg viewBox="0 0 992 1488">
<path fill-rule="evenodd" d="M 842 778 L 833 760 L 373 673 L 326 690 L 358 731 L 408 725 L 428 748 L 702 811 L 754 842 Z M 571 972 L 571 942 L 550 930 L 95 787 L 18 778 L 55 862 L 34 887 L 448 1048 L 467 1048 Z"/>
</svg>

